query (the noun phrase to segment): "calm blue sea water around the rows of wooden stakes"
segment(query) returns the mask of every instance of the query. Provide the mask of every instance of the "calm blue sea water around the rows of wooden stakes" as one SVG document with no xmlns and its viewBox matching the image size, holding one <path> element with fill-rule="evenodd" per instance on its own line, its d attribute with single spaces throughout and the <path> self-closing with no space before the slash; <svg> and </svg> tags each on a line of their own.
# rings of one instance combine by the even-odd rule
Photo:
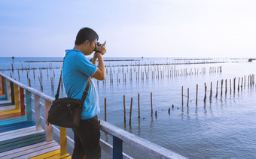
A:
<svg viewBox="0 0 256 159">
<path fill-rule="evenodd" d="M 105 58 L 105 60 L 108 60 L 105 62 L 107 68 L 105 83 L 93 80 L 99 92 L 101 107 L 99 118 L 104 120 L 106 98 L 108 122 L 185 157 L 256 158 L 256 88 L 255 84 L 248 86 L 248 75 L 256 74 L 256 62 L 230 58 Z M 0 71 L 26 85 L 28 85 L 28 74 L 32 87 L 38 90 L 40 90 L 38 77 L 41 71 L 43 92 L 54 97 L 62 62 L 35 61 L 62 61 L 62 58 L 14 58 L 14 71 L 11 71 L 11 58 L 0 58 Z M 220 66 L 222 72 L 217 70 Z M 22 68 L 34 68 L 34 70 L 22 71 Z M 210 73 L 210 68 L 215 68 L 216 71 Z M 206 71 L 205 74 L 202 74 L 203 70 Z M 35 71 L 35 79 L 33 71 Z M 184 71 L 187 75 L 184 75 Z M 130 74 L 133 77 L 130 77 Z M 139 80 L 136 78 L 138 74 Z M 54 89 L 51 89 L 50 77 L 53 77 Z M 225 94 L 224 81 L 221 96 L 221 80 L 226 79 L 227 94 Z M 215 97 L 217 80 L 218 96 Z M 211 82 L 212 99 L 209 98 Z M 206 103 L 203 102 L 205 83 Z M 197 84 L 198 103 L 196 104 Z M 183 107 L 182 86 L 184 87 Z M 189 88 L 188 107 L 187 88 Z M 151 92 L 153 115 L 151 115 Z M 140 118 L 138 118 L 138 93 Z M 123 95 L 126 98 L 126 124 L 123 121 Z M 60 91 L 60 97 L 66 97 L 65 90 Z M 133 112 L 130 126 L 131 98 L 133 98 Z M 168 113 L 169 109 L 170 113 Z M 68 134 L 73 137 L 72 130 L 68 130 Z M 102 139 L 112 142 L 111 136 L 105 136 L 105 133 L 101 136 Z M 132 157 L 147 158 L 129 145 L 124 144 L 123 149 Z M 69 153 L 72 153 L 72 150 L 69 149 Z M 104 154 L 102 158 L 109 156 Z"/>
</svg>

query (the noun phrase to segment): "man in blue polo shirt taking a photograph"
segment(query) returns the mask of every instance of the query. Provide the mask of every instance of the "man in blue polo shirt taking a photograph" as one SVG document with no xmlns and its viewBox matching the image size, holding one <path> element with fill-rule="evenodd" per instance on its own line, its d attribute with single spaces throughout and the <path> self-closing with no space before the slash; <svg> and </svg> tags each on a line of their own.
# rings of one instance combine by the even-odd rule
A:
<svg viewBox="0 0 256 159">
<path fill-rule="evenodd" d="M 81 124 L 73 128 L 75 148 L 72 158 L 87 159 L 100 158 L 101 148 L 99 145 L 99 97 L 90 77 L 96 80 L 105 80 L 105 65 L 102 55 L 105 54 L 105 43 L 97 46 L 99 39 L 96 31 L 91 28 L 81 28 L 75 40 L 74 49 L 67 49 L 63 63 L 63 83 L 66 95 L 69 98 L 81 100 L 84 89 L 90 80 L 88 95 L 84 101 L 81 114 Z M 93 62 L 89 62 L 85 55 L 94 52 Z M 98 67 L 96 60 L 98 59 Z"/>
</svg>

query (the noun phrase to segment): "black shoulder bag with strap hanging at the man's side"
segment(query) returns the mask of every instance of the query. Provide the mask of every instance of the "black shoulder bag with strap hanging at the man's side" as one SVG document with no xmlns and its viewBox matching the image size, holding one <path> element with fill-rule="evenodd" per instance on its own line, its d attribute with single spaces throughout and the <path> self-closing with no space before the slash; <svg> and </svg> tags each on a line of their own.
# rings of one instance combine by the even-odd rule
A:
<svg viewBox="0 0 256 159">
<path fill-rule="evenodd" d="M 59 77 L 59 86 L 62 78 L 62 72 Z M 89 77 L 90 78 L 90 77 Z M 55 124 L 60 127 L 78 127 L 80 124 L 81 113 L 85 98 L 88 95 L 90 86 L 90 79 L 88 79 L 87 87 L 84 89 L 81 101 L 73 98 L 60 98 L 59 99 L 59 86 L 55 95 L 55 100 L 52 102 L 48 112 L 47 123 Z"/>
</svg>

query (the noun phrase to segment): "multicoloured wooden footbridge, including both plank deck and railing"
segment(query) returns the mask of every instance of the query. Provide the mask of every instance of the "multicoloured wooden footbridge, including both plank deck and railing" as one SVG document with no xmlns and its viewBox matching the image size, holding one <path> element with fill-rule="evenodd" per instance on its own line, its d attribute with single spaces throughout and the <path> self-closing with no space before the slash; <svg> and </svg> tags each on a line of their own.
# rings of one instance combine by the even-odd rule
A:
<svg viewBox="0 0 256 159">
<path fill-rule="evenodd" d="M 71 158 L 67 153 L 67 144 L 74 148 L 74 140 L 66 136 L 66 127 L 45 124 L 53 100 L 43 92 L 0 73 L 0 159 Z M 44 117 L 40 113 L 41 107 L 44 107 Z M 132 158 L 123 152 L 123 142 L 132 145 L 147 158 L 186 158 L 106 121 L 100 123 L 100 129 L 113 137 L 113 145 L 100 139 L 102 150 L 113 158 Z M 44 124 L 44 130 L 41 124 Z M 59 136 L 59 144 L 53 140 L 53 132 Z"/>
</svg>

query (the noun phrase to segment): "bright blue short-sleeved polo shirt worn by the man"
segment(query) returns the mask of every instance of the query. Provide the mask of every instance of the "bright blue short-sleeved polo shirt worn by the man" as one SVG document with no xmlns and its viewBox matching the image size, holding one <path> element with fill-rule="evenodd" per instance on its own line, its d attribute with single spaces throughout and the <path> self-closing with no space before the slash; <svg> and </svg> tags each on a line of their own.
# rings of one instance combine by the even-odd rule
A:
<svg viewBox="0 0 256 159">
<path fill-rule="evenodd" d="M 78 49 L 67 49 L 63 63 L 62 79 L 69 98 L 81 100 L 87 81 L 90 87 L 84 101 L 81 119 L 93 118 L 99 114 L 99 95 L 90 77 L 97 71 L 97 66 L 85 58 Z"/>
</svg>

